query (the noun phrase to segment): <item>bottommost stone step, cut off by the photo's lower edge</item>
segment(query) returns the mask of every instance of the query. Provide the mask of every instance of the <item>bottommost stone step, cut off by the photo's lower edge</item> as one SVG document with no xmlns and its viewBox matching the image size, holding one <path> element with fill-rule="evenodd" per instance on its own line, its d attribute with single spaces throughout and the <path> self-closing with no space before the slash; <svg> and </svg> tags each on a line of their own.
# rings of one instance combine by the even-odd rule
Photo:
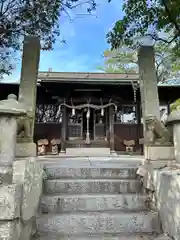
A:
<svg viewBox="0 0 180 240">
<path fill-rule="evenodd" d="M 93 235 L 79 235 L 79 236 L 62 236 L 62 235 L 41 235 L 33 237 L 32 240 L 158 240 L 158 237 L 153 234 L 93 234 Z M 170 238 L 164 236 L 159 240 L 170 240 Z"/>
</svg>

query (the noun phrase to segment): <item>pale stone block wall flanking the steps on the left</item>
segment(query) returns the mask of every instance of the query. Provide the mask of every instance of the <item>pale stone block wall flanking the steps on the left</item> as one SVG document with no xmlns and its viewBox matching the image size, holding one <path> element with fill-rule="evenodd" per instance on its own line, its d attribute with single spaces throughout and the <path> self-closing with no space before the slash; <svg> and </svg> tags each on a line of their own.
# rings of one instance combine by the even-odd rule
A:
<svg viewBox="0 0 180 240">
<path fill-rule="evenodd" d="M 36 232 L 42 180 L 35 158 L 13 162 L 12 184 L 0 186 L 0 240 L 30 240 Z"/>
</svg>

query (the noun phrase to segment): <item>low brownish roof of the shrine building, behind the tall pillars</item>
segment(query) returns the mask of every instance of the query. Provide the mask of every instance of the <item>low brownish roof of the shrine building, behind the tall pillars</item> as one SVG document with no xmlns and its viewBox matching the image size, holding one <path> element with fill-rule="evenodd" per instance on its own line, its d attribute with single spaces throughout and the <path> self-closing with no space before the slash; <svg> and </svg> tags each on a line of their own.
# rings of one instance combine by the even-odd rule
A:
<svg viewBox="0 0 180 240">
<path fill-rule="evenodd" d="M 102 72 L 50 72 L 40 71 L 38 73 L 38 85 L 40 83 L 85 83 L 85 84 L 113 84 L 129 85 L 139 81 L 139 74 L 135 73 L 102 73 Z M 19 83 L 5 83 L 19 85 Z M 158 87 L 180 87 L 179 79 L 159 83 Z"/>
</svg>

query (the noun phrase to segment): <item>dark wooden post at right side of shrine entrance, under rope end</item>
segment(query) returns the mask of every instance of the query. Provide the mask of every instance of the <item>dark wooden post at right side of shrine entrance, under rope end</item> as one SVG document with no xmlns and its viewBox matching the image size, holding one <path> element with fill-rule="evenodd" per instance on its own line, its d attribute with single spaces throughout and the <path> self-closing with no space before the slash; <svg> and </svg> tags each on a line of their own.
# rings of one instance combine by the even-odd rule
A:
<svg viewBox="0 0 180 240">
<path fill-rule="evenodd" d="M 114 145 L 114 107 L 109 108 L 109 143 L 110 151 L 113 153 L 115 151 Z"/>
</svg>

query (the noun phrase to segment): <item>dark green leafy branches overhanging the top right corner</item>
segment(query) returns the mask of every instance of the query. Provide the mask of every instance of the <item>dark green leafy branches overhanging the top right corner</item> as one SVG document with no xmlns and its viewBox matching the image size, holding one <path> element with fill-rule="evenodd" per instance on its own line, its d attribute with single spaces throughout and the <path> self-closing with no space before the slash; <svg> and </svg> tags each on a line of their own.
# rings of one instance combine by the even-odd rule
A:
<svg viewBox="0 0 180 240">
<path fill-rule="evenodd" d="M 124 17 L 107 34 L 112 48 L 122 42 L 132 46 L 136 38 L 150 35 L 156 42 L 171 44 L 173 53 L 180 56 L 179 0 L 127 0 L 123 10 Z"/>
</svg>

